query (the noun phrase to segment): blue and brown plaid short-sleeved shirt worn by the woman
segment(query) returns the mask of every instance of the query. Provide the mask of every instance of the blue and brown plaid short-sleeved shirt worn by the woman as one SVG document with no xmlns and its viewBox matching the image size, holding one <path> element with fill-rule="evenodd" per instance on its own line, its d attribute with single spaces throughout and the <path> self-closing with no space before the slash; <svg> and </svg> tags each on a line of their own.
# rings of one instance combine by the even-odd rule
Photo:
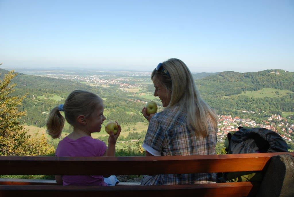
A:
<svg viewBox="0 0 294 197">
<path fill-rule="evenodd" d="M 150 120 L 143 148 L 154 156 L 216 154 L 216 129 L 208 121 L 208 137 L 196 137 L 188 128 L 187 113 L 174 106 Z M 150 185 L 212 183 L 212 173 L 153 175 Z"/>
</svg>

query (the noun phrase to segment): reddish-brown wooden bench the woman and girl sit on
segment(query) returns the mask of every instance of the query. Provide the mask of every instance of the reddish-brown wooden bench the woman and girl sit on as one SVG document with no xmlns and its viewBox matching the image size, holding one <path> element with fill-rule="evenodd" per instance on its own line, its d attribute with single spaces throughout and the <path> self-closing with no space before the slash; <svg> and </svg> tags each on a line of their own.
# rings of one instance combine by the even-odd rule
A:
<svg viewBox="0 0 294 197">
<path fill-rule="evenodd" d="M 157 157 L 0 156 L 1 175 L 143 175 L 265 171 L 273 156 L 257 153 Z M 291 158 L 291 157 L 290 157 Z M 78 170 L 77 170 L 78 169 Z M 1 179 L 0 196 L 255 196 L 260 182 L 164 186 L 59 186 L 55 181 Z"/>
</svg>

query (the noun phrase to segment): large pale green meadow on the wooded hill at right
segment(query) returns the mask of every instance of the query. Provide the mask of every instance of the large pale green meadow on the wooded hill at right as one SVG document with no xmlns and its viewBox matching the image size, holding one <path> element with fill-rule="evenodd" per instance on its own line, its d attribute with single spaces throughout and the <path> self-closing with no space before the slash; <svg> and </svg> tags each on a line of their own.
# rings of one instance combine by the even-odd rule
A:
<svg viewBox="0 0 294 197">
<path fill-rule="evenodd" d="M 278 93 L 278 94 L 277 94 Z M 238 94 L 237 96 L 249 96 L 249 97 L 258 97 L 258 98 L 263 98 L 263 97 L 281 97 L 287 95 L 287 93 L 293 93 L 289 90 L 280 90 L 280 89 L 274 89 L 274 88 L 263 88 L 261 90 L 256 90 L 256 91 L 245 91 L 242 92 L 241 94 Z"/>
</svg>

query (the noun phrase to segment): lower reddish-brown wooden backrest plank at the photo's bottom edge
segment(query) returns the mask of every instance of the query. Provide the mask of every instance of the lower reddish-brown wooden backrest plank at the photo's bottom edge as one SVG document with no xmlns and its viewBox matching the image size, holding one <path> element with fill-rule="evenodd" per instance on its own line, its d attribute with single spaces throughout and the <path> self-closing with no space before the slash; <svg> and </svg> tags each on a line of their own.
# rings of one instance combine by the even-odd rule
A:
<svg viewBox="0 0 294 197">
<path fill-rule="evenodd" d="M 258 183 L 211 183 L 166 186 L 0 186 L 0 196 L 254 196 Z"/>
</svg>

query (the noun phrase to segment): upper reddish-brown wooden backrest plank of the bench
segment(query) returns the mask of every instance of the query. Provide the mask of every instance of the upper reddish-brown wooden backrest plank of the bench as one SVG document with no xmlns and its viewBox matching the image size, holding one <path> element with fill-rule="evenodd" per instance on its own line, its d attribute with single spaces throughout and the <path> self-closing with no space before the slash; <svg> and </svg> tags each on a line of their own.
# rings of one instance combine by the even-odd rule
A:
<svg viewBox="0 0 294 197">
<path fill-rule="evenodd" d="M 294 152 L 157 157 L 0 156 L 0 174 L 142 175 L 261 171 L 270 157 L 279 154 L 294 156 Z"/>
</svg>

